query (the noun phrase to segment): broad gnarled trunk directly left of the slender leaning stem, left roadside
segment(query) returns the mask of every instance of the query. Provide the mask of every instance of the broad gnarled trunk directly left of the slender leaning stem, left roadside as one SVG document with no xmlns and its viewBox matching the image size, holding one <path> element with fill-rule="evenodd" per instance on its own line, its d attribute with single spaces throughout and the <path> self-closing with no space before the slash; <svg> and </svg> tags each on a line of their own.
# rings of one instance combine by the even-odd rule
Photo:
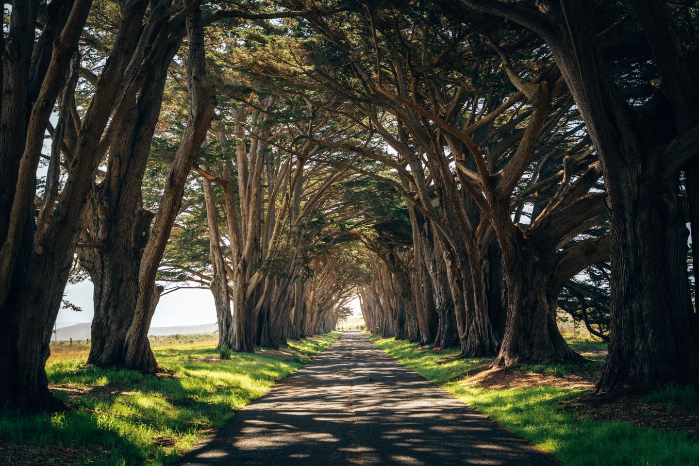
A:
<svg viewBox="0 0 699 466">
<path fill-rule="evenodd" d="M 160 114 L 168 67 L 180 41 L 163 48 L 150 67 L 138 100 L 113 121 L 105 180 L 92 193 L 86 247 L 80 264 L 94 285 L 92 344 L 87 362 L 98 367 L 124 364 L 124 347 L 138 302 L 138 274 L 150 238 L 152 212 L 143 209 L 141 185 Z"/>
</svg>

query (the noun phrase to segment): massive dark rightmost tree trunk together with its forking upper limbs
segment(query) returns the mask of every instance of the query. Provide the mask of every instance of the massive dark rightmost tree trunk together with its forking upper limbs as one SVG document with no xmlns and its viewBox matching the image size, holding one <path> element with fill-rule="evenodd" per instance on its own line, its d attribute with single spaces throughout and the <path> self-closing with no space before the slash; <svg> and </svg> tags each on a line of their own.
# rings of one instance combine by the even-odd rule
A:
<svg viewBox="0 0 699 466">
<path fill-rule="evenodd" d="M 687 325 L 686 232 L 677 221 L 676 202 L 677 171 L 685 154 L 665 154 L 668 135 L 640 121 L 621 96 L 596 41 L 589 1 L 561 0 L 560 8 L 551 5 L 551 17 L 503 2 L 463 3 L 519 22 L 547 42 L 599 154 L 610 217 L 612 311 L 609 355 L 596 393 L 696 382 L 699 349 L 696 330 Z M 679 41 L 662 2 L 632 5 L 682 136 L 696 124 L 696 89 L 687 79 Z M 663 119 L 667 122 L 670 115 Z M 691 146 L 685 144 L 683 151 Z"/>
</svg>

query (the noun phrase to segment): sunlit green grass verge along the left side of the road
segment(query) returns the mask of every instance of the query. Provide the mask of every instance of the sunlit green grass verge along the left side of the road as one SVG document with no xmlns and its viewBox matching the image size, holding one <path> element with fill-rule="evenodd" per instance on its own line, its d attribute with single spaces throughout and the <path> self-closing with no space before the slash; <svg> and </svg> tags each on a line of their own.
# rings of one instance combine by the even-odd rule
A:
<svg viewBox="0 0 699 466">
<path fill-rule="evenodd" d="M 220 359 L 209 341 L 154 345 L 172 374 L 85 367 L 76 347 L 47 365 L 50 387 L 73 409 L 26 415 L 0 411 L 0 464 L 168 465 L 222 426 L 275 381 L 340 337 L 291 341 L 280 351 Z M 214 343 L 215 345 L 215 343 Z"/>
</svg>

